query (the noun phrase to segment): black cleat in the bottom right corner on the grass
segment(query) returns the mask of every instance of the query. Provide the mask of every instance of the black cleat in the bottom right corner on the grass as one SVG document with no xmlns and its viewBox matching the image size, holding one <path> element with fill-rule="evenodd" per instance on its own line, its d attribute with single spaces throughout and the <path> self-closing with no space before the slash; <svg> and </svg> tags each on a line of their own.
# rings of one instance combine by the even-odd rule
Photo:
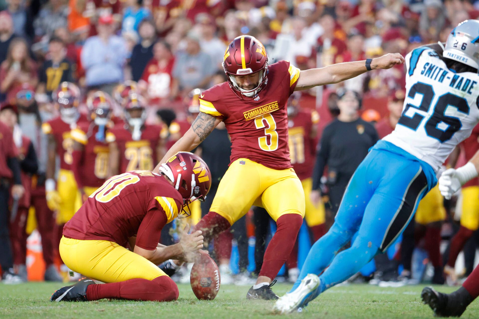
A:
<svg viewBox="0 0 479 319">
<path fill-rule="evenodd" d="M 452 296 L 453 294 L 443 294 L 435 291 L 433 287 L 425 287 L 422 289 L 421 298 L 424 304 L 433 309 L 436 317 L 461 317 L 468 303 L 466 300 L 456 300 L 458 298 Z"/>
</svg>

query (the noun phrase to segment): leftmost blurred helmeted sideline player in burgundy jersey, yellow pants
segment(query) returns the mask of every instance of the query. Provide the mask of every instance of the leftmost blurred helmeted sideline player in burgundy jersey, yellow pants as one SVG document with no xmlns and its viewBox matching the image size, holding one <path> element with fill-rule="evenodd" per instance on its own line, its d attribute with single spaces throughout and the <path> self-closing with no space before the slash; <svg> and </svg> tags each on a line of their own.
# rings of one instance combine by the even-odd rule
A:
<svg viewBox="0 0 479 319">
<path fill-rule="evenodd" d="M 46 201 L 49 209 L 57 211 L 57 225 L 59 227 L 56 242 L 58 243 L 63 225 L 72 218 L 80 207 L 78 187 L 75 176 L 71 171 L 73 162 L 71 130 L 82 122 L 88 122 L 88 120 L 78 110 L 80 89 L 75 84 L 62 82 L 53 98 L 60 111 L 60 116 L 43 123 L 42 131 L 48 138 Z M 60 170 L 55 183 L 57 155 L 60 157 Z"/>
</svg>

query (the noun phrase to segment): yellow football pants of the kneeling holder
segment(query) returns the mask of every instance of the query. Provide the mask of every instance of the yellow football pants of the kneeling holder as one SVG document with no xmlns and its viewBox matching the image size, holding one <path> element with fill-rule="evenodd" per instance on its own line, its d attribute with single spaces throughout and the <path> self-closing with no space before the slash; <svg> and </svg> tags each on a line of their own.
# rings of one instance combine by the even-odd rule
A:
<svg viewBox="0 0 479 319">
<path fill-rule="evenodd" d="M 116 242 L 78 240 L 62 236 L 59 251 L 68 268 L 104 283 L 135 278 L 153 280 L 166 276 L 158 266 Z"/>
</svg>

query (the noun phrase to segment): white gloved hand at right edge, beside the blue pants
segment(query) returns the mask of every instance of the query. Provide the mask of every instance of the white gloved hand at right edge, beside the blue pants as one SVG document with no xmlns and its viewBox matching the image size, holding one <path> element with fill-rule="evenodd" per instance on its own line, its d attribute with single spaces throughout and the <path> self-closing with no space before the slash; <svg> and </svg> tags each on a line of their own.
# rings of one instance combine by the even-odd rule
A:
<svg viewBox="0 0 479 319">
<path fill-rule="evenodd" d="M 458 169 L 449 168 L 439 177 L 439 191 L 445 199 L 451 199 L 461 186 L 476 176 L 478 176 L 476 167 L 470 162 Z"/>
</svg>

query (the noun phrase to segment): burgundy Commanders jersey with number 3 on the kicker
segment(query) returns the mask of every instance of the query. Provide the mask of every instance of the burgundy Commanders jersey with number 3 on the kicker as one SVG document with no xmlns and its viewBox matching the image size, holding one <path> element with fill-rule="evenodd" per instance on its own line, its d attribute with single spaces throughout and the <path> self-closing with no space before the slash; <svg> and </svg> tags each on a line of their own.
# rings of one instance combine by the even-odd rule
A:
<svg viewBox="0 0 479 319">
<path fill-rule="evenodd" d="M 274 169 L 292 167 L 288 148 L 286 102 L 299 69 L 288 61 L 268 68 L 268 84 L 254 99 L 240 99 L 224 82 L 200 96 L 200 111 L 221 118 L 231 137 L 231 157 L 248 158 Z"/>
</svg>

